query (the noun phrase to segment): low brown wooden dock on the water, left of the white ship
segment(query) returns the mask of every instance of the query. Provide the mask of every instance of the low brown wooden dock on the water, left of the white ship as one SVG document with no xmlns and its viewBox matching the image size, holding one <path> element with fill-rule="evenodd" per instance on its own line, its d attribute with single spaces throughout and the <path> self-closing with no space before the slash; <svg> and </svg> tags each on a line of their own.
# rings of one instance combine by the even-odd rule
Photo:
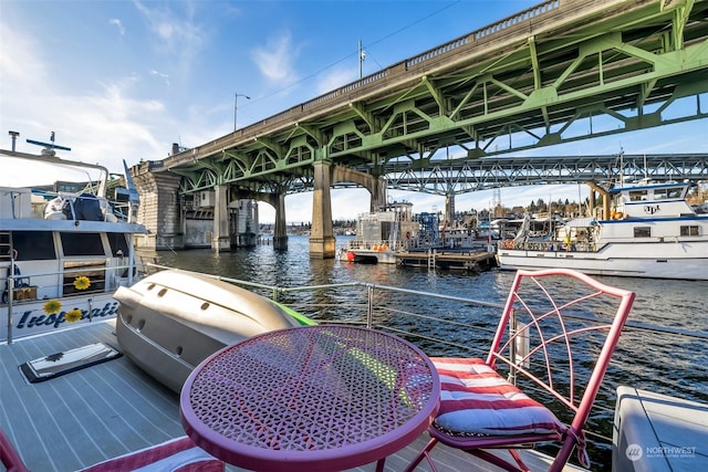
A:
<svg viewBox="0 0 708 472">
<path fill-rule="evenodd" d="M 444 269 L 451 271 L 483 272 L 497 266 L 493 252 L 450 251 L 431 249 L 396 253 L 396 263 L 407 268 Z"/>
</svg>

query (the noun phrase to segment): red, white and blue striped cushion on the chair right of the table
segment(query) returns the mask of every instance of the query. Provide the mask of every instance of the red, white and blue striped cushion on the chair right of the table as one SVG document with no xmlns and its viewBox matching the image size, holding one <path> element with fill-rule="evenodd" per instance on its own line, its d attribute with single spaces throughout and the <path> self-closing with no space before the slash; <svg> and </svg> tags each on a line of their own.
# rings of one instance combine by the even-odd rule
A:
<svg viewBox="0 0 708 472">
<path fill-rule="evenodd" d="M 513 436 L 564 431 L 555 416 L 482 359 L 433 358 L 440 376 L 435 426 L 458 434 Z"/>
</svg>

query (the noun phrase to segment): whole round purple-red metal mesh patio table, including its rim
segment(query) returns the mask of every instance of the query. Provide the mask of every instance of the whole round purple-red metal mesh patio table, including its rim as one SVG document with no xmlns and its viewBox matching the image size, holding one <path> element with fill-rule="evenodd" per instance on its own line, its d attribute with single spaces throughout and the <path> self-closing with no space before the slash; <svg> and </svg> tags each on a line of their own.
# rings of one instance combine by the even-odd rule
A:
<svg viewBox="0 0 708 472">
<path fill-rule="evenodd" d="M 212 455 L 262 471 L 335 471 L 378 461 L 433 421 L 430 359 L 375 329 L 275 331 L 201 363 L 180 396 L 187 434 Z"/>
</svg>

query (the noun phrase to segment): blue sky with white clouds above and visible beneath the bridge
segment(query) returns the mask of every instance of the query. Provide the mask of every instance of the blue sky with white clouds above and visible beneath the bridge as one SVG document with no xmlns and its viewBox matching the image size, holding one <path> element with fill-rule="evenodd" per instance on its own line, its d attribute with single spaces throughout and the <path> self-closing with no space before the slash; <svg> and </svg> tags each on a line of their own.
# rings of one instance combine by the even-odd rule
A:
<svg viewBox="0 0 708 472">
<path fill-rule="evenodd" d="M 123 160 L 164 159 L 173 143 L 199 146 L 357 80 L 360 41 L 368 75 L 535 3 L 0 0 L 0 148 L 11 147 L 14 130 L 17 150 L 37 153 L 25 139 L 48 141 L 54 132 L 72 148 L 62 157 L 123 172 Z M 658 129 L 533 153 L 708 153 L 706 119 Z M 7 180 L 17 176 L 0 162 L 0 186 Z M 577 186 L 500 190 L 507 207 L 585 195 Z M 416 212 L 445 208 L 439 196 L 388 196 Z M 492 200 L 491 191 L 459 195 L 456 209 Z M 332 190 L 334 219 L 367 210 L 366 190 Z M 288 196 L 285 213 L 288 223 L 311 221 L 312 193 Z M 260 220 L 272 222 L 274 209 L 260 203 Z"/>
</svg>

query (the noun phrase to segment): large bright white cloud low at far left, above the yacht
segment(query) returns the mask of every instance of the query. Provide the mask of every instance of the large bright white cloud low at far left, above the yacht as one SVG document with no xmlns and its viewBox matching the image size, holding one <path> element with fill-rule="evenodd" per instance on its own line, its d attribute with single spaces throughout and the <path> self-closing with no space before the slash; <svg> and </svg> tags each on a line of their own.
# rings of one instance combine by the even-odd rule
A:
<svg viewBox="0 0 708 472">
<path fill-rule="evenodd" d="M 71 153 L 60 153 L 62 157 L 101 162 L 111 171 L 123 171 L 123 159 L 134 165 L 140 158 L 167 156 L 168 145 L 159 138 L 159 132 L 176 126 L 166 117 L 163 103 L 133 97 L 138 77 L 105 82 L 94 90 L 64 88 L 61 80 L 49 78 L 50 63 L 30 32 L 10 30 L 6 23 L 1 28 L 0 129 L 20 133 L 18 150 L 37 153 L 39 149 L 25 139 L 46 141 L 50 133 L 55 132 L 56 144 L 72 148 Z M 22 73 L 17 73 L 18 70 Z M 34 181 L 27 185 L 42 180 L 42 176 L 28 177 Z"/>
</svg>

